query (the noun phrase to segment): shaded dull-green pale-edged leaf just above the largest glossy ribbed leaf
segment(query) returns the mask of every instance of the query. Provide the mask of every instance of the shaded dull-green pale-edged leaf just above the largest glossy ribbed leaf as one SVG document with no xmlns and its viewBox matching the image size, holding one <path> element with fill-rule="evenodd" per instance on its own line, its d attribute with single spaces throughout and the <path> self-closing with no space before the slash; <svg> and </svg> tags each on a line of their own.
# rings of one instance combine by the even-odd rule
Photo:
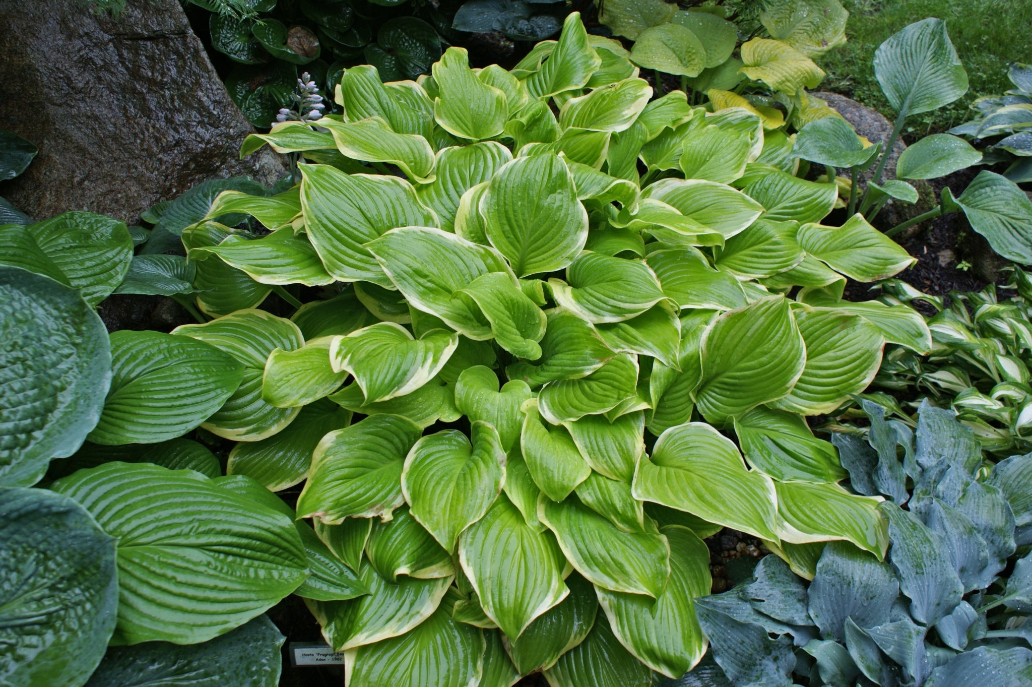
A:
<svg viewBox="0 0 1032 687">
<path fill-rule="evenodd" d="M 229 452 L 227 475 L 247 475 L 269 491 L 298 484 L 309 476 L 312 454 L 319 440 L 343 429 L 351 414 L 329 400 L 301 407 L 293 421 L 260 441 L 240 441 Z"/>
</svg>

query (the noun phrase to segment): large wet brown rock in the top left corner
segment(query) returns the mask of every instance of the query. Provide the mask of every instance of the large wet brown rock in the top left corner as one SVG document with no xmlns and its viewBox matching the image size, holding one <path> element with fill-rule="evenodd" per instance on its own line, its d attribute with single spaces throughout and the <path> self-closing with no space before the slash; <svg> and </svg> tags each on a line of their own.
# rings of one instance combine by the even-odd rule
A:
<svg viewBox="0 0 1032 687">
<path fill-rule="evenodd" d="M 39 220 L 88 209 L 130 223 L 213 177 L 272 184 L 264 149 L 212 67 L 178 0 L 129 0 L 118 19 L 87 0 L 0 0 L 0 129 L 39 146 L 3 195 Z"/>
</svg>

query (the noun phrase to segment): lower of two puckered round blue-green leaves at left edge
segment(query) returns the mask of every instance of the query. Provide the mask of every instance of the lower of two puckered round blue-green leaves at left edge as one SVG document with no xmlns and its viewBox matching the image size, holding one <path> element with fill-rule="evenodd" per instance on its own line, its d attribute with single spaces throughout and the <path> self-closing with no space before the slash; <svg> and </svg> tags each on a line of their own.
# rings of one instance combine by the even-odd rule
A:
<svg viewBox="0 0 1032 687">
<path fill-rule="evenodd" d="M 82 685 L 115 630 L 116 539 L 42 489 L 0 489 L 0 680 Z"/>
</svg>

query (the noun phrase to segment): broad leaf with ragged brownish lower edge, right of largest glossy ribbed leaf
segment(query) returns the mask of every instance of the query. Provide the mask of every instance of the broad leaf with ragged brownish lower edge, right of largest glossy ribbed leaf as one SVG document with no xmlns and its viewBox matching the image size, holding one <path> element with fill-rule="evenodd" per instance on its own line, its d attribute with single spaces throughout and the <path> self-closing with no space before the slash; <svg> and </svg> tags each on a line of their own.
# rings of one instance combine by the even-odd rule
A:
<svg viewBox="0 0 1032 687">
<path fill-rule="evenodd" d="M 297 497 L 298 517 L 328 525 L 348 516 L 389 518 L 405 500 L 405 456 L 420 434 L 422 430 L 405 418 L 376 415 L 323 436 Z"/>
</svg>

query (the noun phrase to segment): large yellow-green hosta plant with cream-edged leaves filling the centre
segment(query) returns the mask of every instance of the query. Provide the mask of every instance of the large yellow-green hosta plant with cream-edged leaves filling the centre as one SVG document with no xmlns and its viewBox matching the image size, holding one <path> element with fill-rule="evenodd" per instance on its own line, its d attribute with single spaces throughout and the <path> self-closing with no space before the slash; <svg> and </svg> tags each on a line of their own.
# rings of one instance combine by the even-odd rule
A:
<svg viewBox="0 0 1032 687">
<path fill-rule="evenodd" d="M 840 300 L 911 258 L 859 215 L 821 224 L 836 186 L 755 113 L 652 96 L 576 13 L 512 71 L 455 47 L 419 83 L 348 69 L 343 117 L 244 145 L 301 153 L 298 186 L 225 192 L 184 232 L 218 317 L 176 333 L 263 368 L 204 426 L 239 441 L 230 472 L 307 479 L 296 515 L 360 583 L 309 599 L 349 685 L 648 685 L 705 652 L 720 527 L 884 555 L 880 499 L 807 417 L 886 341 L 929 348 L 910 308 Z M 690 171 L 643 185 L 660 158 Z M 270 233 L 215 221 L 237 212 Z M 285 285 L 331 297 L 249 309 Z"/>
</svg>

